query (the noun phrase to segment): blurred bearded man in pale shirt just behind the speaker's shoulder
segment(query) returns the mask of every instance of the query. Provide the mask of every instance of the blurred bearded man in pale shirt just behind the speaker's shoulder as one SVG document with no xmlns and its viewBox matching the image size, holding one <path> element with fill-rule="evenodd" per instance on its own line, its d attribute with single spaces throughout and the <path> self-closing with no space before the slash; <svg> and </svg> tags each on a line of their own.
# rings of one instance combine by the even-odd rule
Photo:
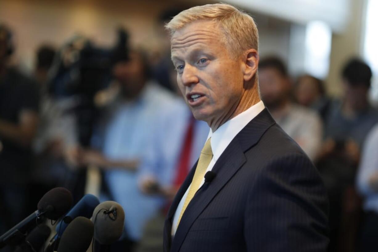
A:
<svg viewBox="0 0 378 252">
<path fill-rule="evenodd" d="M 322 121 L 310 109 L 290 101 L 291 84 L 287 68 L 276 57 L 259 63 L 260 93 L 274 120 L 314 160 L 322 141 Z"/>
</svg>

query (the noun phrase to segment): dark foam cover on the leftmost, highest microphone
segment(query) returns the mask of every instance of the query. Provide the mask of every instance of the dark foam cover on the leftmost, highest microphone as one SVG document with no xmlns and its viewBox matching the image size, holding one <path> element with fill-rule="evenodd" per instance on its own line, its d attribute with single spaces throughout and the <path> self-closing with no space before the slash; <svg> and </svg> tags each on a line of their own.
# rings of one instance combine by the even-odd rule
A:
<svg viewBox="0 0 378 252">
<path fill-rule="evenodd" d="M 39 212 L 45 213 L 47 218 L 56 221 L 70 210 L 72 204 L 71 192 L 64 187 L 56 187 L 43 195 L 38 202 L 37 209 Z"/>
</svg>

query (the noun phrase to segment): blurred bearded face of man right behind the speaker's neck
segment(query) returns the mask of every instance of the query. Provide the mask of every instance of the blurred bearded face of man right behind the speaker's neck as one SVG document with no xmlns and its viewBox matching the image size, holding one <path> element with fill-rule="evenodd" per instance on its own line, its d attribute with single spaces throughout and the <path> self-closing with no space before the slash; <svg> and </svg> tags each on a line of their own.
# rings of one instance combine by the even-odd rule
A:
<svg viewBox="0 0 378 252">
<path fill-rule="evenodd" d="M 274 109 L 282 104 L 288 93 L 288 81 L 273 67 L 259 69 L 261 98 L 264 104 Z"/>
</svg>

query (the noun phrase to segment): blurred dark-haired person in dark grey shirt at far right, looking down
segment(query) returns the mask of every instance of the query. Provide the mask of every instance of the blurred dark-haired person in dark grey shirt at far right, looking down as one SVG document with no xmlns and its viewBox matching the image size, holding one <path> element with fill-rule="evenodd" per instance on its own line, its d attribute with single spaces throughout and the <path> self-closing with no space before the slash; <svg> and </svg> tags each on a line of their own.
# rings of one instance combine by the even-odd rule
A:
<svg viewBox="0 0 378 252">
<path fill-rule="evenodd" d="M 342 69 L 343 97 L 330 107 L 325 138 L 336 142 L 352 140 L 360 148 L 378 120 L 377 110 L 368 99 L 372 71 L 359 59 L 351 59 Z M 353 155 L 355 156 L 355 155 Z"/>
</svg>

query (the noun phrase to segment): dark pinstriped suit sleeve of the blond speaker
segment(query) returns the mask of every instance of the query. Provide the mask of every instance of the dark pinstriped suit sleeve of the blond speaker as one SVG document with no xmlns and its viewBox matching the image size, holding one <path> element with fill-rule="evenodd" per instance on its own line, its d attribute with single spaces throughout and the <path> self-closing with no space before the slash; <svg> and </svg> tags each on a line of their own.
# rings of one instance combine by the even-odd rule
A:
<svg viewBox="0 0 378 252">
<path fill-rule="evenodd" d="M 308 157 L 275 158 L 251 181 L 244 216 L 248 251 L 327 251 L 328 199 Z"/>
</svg>

